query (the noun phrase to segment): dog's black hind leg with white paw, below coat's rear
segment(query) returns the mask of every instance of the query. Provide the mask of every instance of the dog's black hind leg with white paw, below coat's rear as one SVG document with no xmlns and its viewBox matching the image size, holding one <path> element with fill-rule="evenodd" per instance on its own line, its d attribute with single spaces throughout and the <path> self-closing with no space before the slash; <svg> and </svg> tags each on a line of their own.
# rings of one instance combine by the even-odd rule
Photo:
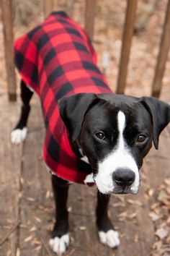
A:
<svg viewBox="0 0 170 256">
<path fill-rule="evenodd" d="M 11 141 L 14 144 L 19 144 L 27 136 L 27 119 L 30 113 L 30 99 L 32 98 L 33 92 L 30 90 L 24 81 L 21 80 L 21 98 L 22 98 L 22 109 L 19 117 L 19 121 L 16 127 L 11 133 Z"/>
</svg>

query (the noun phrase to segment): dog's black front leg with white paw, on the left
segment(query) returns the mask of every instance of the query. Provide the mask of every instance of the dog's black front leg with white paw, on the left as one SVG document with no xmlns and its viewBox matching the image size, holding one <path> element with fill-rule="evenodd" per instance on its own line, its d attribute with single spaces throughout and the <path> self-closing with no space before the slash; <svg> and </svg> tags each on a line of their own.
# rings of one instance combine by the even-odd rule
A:
<svg viewBox="0 0 170 256">
<path fill-rule="evenodd" d="M 55 199 L 55 225 L 50 239 L 50 246 L 58 255 L 66 251 L 69 244 L 68 234 L 68 182 L 52 175 L 53 194 Z"/>
</svg>

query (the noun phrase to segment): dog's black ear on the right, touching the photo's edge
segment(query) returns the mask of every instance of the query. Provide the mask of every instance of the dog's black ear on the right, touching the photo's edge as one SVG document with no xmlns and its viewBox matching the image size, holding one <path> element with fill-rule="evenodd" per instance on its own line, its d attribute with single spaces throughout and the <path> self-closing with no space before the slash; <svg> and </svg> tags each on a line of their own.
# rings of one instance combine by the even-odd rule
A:
<svg viewBox="0 0 170 256">
<path fill-rule="evenodd" d="M 153 122 L 153 143 L 158 149 L 158 137 L 170 121 L 170 106 L 153 97 L 143 97 L 141 102 L 151 114 Z"/>
</svg>

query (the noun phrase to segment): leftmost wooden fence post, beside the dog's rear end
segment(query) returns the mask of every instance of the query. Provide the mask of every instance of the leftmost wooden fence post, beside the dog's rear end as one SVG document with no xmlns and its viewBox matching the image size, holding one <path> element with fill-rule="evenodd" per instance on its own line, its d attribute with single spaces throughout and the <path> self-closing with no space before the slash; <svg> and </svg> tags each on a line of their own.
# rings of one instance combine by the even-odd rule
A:
<svg viewBox="0 0 170 256">
<path fill-rule="evenodd" d="M 4 30 L 4 50 L 9 101 L 17 101 L 13 53 L 12 0 L 1 0 L 1 15 Z"/>
</svg>

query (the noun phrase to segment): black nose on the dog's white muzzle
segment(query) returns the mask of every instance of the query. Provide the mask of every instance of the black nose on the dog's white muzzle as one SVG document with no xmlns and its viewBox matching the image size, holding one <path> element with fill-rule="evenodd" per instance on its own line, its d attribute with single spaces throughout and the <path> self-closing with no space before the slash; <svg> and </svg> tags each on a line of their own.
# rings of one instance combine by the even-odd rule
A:
<svg viewBox="0 0 170 256">
<path fill-rule="evenodd" d="M 135 173 L 129 169 L 118 169 L 113 173 L 114 182 L 121 187 L 128 187 L 135 180 Z"/>
</svg>

